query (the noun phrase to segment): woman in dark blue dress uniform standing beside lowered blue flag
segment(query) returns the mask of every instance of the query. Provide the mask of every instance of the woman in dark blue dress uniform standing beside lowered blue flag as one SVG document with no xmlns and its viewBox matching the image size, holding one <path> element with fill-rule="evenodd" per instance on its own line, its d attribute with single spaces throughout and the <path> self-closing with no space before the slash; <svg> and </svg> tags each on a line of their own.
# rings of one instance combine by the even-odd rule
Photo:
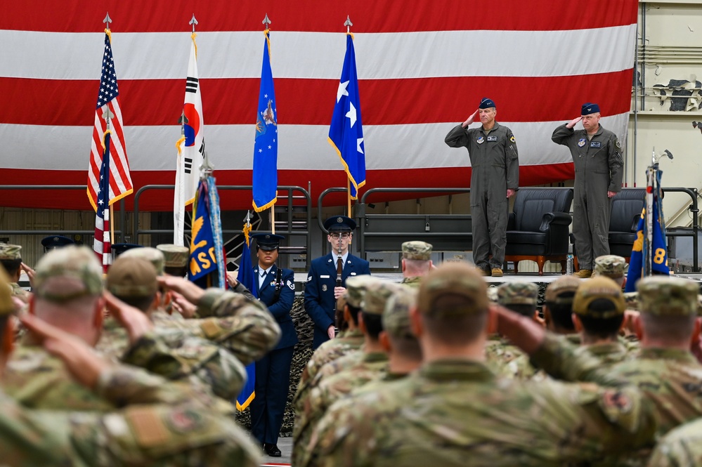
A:
<svg viewBox="0 0 702 467">
<path fill-rule="evenodd" d="M 268 456 L 280 457 L 278 434 L 285 413 L 285 402 L 290 387 L 290 364 L 297 343 L 297 333 L 290 317 L 295 298 L 295 275 L 290 269 L 278 268 L 282 235 L 257 233 L 254 266 L 254 285 L 257 296 L 280 326 L 280 342 L 261 360 L 256 361 L 256 397 L 251 408 L 251 431 Z"/>
</svg>

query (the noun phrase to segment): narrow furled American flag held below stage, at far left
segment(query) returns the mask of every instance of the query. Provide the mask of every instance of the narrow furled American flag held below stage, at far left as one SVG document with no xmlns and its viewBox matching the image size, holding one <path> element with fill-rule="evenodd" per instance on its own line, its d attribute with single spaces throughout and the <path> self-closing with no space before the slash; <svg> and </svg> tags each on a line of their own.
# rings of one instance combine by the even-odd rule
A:
<svg viewBox="0 0 702 467">
<path fill-rule="evenodd" d="M 109 114 L 108 114 L 108 117 Z M 100 175 L 98 178 L 98 200 L 95 210 L 95 239 L 93 240 L 93 251 L 98 255 L 98 260 L 103 265 L 103 272 L 108 272 L 108 266 L 112 264 L 112 244 L 110 242 L 110 134 L 112 131 L 105 131 L 105 141 L 100 141 L 100 147 L 104 147 L 103 158 L 100 163 Z"/>
</svg>

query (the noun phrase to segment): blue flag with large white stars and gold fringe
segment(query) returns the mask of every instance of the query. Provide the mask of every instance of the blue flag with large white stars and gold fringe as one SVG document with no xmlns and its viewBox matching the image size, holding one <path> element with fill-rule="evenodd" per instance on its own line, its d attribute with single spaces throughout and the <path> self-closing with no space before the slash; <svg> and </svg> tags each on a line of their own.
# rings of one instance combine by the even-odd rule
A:
<svg viewBox="0 0 702 467">
<path fill-rule="evenodd" d="M 358 188 L 365 185 L 365 143 L 360 120 L 356 53 L 351 34 L 346 34 L 346 56 L 329 128 L 329 143 L 337 150 L 344 171 L 349 176 L 351 199 L 358 198 Z"/>
</svg>

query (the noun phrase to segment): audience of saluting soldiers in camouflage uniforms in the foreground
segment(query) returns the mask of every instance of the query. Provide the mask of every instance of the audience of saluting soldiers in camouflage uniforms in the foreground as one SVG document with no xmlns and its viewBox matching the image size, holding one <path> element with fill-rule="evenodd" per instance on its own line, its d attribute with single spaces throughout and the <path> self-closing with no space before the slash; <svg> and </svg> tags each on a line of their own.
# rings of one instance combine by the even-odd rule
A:
<svg viewBox="0 0 702 467">
<path fill-rule="evenodd" d="M 183 278 L 187 248 L 85 247 L 36 270 L 0 244 L 0 452 L 11 466 L 256 466 L 230 404 L 280 338 L 241 284 Z M 488 289 L 402 245 L 401 284 L 353 275 L 304 367 L 293 466 L 702 465 L 699 286 L 624 258 L 589 279 Z M 21 270 L 32 282 L 18 286 Z M 175 274 L 175 275 L 174 275 Z M 15 328 L 24 331 L 15 334 Z"/>
</svg>

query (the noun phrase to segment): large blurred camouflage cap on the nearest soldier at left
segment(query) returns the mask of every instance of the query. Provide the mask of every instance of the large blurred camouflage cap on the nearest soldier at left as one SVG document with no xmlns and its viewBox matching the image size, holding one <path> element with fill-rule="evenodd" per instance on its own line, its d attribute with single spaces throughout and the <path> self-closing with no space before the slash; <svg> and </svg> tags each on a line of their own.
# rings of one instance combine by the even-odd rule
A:
<svg viewBox="0 0 702 467">
<path fill-rule="evenodd" d="M 103 292 L 103 266 L 87 246 L 68 245 L 48 251 L 37 263 L 34 295 L 63 303 Z"/>
</svg>

